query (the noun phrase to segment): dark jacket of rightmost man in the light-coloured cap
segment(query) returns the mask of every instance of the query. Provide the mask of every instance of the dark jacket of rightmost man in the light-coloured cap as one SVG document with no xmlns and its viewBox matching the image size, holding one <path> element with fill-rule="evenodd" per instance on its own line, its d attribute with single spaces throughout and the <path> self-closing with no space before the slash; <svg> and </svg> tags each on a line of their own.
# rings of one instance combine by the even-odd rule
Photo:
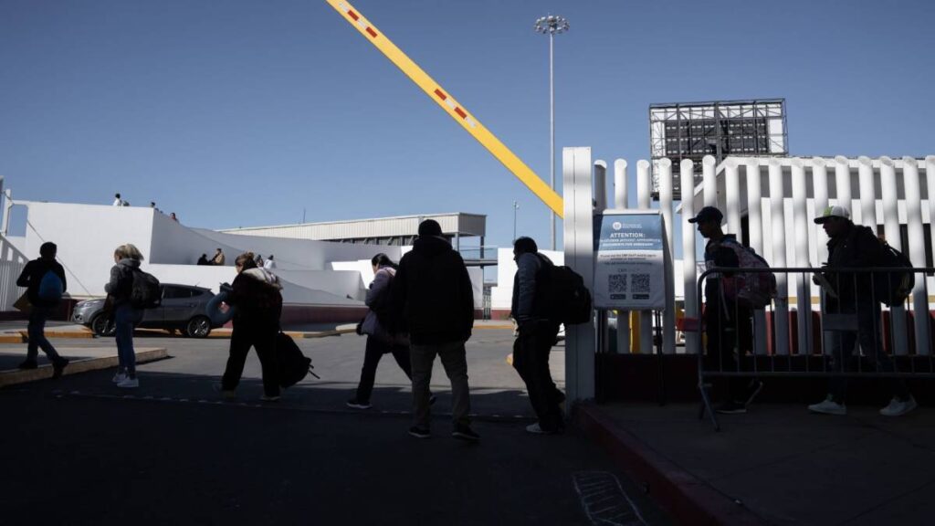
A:
<svg viewBox="0 0 935 526">
<path fill-rule="evenodd" d="M 883 248 L 869 226 L 851 225 L 841 234 L 827 241 L 826 269 L 866 269 L 880 265 Z M 838 298 L 827 296 L 828 312 L 847 310 L 857 301 L 872 302 L 872 282 L 870 272 L 833 272 L 826 271 L 825 277 L 831 283 Z"/>
</svg>

